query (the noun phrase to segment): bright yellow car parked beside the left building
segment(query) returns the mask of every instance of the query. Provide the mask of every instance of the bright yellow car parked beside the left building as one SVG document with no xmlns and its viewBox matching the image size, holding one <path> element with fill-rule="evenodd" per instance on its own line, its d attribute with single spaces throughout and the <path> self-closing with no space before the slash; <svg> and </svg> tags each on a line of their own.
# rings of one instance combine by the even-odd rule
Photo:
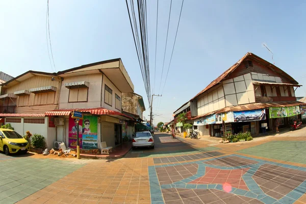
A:
<svg viewBox="0 0 306 204">
<path fill-rule="evenodd" d="M 29 142 L 16 131 L 0 129 L 0 150 L 4 151 L 6 155 L 16 152 L 27 153 L 29 149 Z"/>
</svg>

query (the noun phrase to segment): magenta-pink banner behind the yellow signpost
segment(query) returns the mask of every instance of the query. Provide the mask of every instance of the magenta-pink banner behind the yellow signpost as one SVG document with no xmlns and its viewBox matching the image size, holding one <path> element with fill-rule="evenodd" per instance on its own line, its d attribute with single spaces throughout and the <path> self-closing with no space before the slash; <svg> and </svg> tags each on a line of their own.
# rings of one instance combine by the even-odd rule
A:
<svg viewBox="0 0 306 204">
<path fill-rule="evenodd" d="M 83 120 L 79 121 L 79 146 L 82 148 L 82 124 Z M 77 148 L 77 119 L 73 119 L 69 117 L 69 125 L 68 125 L 68 146 L 71 148 Z"/>
</svg>

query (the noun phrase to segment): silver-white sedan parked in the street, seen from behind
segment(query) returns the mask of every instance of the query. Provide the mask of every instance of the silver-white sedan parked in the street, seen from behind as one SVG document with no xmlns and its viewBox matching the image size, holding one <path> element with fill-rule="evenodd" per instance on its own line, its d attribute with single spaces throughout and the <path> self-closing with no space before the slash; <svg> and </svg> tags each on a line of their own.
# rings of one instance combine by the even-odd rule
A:
<svg viewBox="0 0 306 204">
<path fill-rule="evenodd" d="M 132 142 L 133 149 L 136 147 L 151 147 L 154 149 L 154 137 L 148 131 L 135 133 Z"/>
</svg>

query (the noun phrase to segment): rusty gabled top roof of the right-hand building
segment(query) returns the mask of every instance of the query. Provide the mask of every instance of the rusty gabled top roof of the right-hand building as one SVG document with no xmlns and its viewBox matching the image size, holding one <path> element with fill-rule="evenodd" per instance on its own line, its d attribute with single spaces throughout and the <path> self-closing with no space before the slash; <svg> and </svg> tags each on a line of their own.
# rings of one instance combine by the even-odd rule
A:
<svg viewBox="0 0 306 204">
<path fill-rule="evenodd" d="M 233 66 L 231 66 L 230 68 L 228 68 L 226 71 L 224 71 L 217 79 L 215 79 L 214 81 L 212 81 L 205 89 L 203 89 L 202 91 L 200 91 L 198 94 L 196 94 L 193 98 L 191 98 L 190 100 L 193 100 L 194 98 L 196 98 L 198 95 L 204 93 L 205 91 L 209 90 L 210 88 L 214 87 L 215 85 L 219 84 L 222 80 L 226 79 L 228 77 L 228 75 L 230 75 L 242 62 L 243 60 L 245 60 L 247 57 L 250 57 L 254 60 L 257 60 L 259 62 L 261 62 L 262 64 L 266 64 L 269 65 L 269 68 L 272 69 L 273 71 L 284 75 L 284 77 L 286 77 L 287 79 L 289 79 L 291 81 L 292 84 L 298 84 L 297 81 L 295 81 L 288 73 L 286 73 L 285 71 L 283 71 L 282 69 L 276 67 L 274 64 L 271 64 L 270 62 L 258 57 L 257 55 L 254 55 L 253 53 L 247 53 L 245 54 L 238 62 L 236 62 Z"/>
</svg>

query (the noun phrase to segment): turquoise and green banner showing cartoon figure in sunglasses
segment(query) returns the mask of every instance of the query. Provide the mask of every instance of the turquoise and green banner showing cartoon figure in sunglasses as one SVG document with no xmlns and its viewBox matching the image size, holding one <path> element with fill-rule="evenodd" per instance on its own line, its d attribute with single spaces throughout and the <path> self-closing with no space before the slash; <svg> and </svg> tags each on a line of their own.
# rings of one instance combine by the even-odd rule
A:
<svg viewBox="0 0 306 204">
<path fill-rule="evenodd" d="M 98 118 L 92 115 L 85 115 L 82 128 L 82 148 L 97 149 L 98 148 Z"/>
</svg>

